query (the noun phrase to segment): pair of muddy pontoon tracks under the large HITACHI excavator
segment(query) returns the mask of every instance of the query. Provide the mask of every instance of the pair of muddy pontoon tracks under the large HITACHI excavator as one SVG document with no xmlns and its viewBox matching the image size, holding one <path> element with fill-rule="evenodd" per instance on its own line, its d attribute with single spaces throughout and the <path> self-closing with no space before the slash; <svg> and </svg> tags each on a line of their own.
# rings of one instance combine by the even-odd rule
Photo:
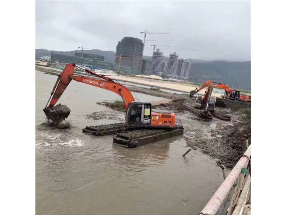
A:
<svg viewBox="0 0 286 215">
<path fill-rule="evenodd" d="M 113 143 L 126 148 L 133 148 L 137 145 L 154 143 L 170 137 L 182 135 L 184 129 L 183 126 L 159 129 L 151 126 L 138 127 L 127 125 L 126 123 L 115 123 L 101 126 L 86 126 L 82 131 L 95 136 L 117 134 L 117 136 L 113 138 Z"/>
</svg>

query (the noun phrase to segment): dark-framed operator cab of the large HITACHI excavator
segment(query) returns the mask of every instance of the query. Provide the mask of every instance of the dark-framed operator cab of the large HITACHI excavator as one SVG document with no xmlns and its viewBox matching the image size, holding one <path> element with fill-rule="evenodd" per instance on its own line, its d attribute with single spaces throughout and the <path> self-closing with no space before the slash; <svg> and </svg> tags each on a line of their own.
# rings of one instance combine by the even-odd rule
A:
<svg viewBox="0 0 286 215">
<path fill-rule="evenodd" d="M 130 103 L 125 120 L 131 125 L 151 125 L 151 103 L 137 101 Z"/>
</svg>

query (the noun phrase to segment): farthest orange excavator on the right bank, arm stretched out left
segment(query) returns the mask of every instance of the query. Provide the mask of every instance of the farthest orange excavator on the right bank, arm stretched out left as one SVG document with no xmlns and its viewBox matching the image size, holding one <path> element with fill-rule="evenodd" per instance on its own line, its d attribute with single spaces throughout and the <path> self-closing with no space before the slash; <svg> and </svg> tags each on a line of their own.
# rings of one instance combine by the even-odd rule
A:
<svg viewBox="0 0 286 215">
<path fill-rule="evenodd" d="M 225 98 L 233 99 L 233 100 L 240 100 L 240 101 L 245 101 L 245 102 L 250 101 L 250 97 L 247 95 L 241 95 L 239 90 L 231 90 L 227 84 L 218 83 L 218 82 L 214 82 L 211 80 L 206 81 L 201 86 L 199 86 L 199 88 L 196 88 L 195 90 L 191 90 L 190 97 L 193 97 L 194 94 L 201 91 L 203 88 L 210 86 L 211 83 L 213 83 L 214 88 L 220 88 L 220 89 L 225 90 L 225 93 L 226 93 Z"/>
</svg>

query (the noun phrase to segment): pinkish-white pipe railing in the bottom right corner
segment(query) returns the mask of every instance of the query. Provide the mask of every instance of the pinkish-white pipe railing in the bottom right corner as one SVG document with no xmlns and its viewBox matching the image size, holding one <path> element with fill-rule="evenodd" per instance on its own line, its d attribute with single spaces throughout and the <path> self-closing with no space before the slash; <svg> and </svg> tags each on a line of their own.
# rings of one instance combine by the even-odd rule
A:
<svg viewBox="0 0 286 215">
<path fill-rule="evenodd" d="M 233 167 L 231 172 L 222 182 L 217 191 L 213 194 L 199 215 L 216 215 L 223 202 L 226 201 L 231 190 L 233 193 L 227 209 L 227 213 L 222 213 L 227 215 L 238 215 L 242 213 L 242 209 L 245 203 L 250 203 L 250 169 L 247 170 L 250 156 L 251 145 L 247 148 L 245 153 Z M 238 182 L 236 183 L 237 180 Z"/>
</svg>

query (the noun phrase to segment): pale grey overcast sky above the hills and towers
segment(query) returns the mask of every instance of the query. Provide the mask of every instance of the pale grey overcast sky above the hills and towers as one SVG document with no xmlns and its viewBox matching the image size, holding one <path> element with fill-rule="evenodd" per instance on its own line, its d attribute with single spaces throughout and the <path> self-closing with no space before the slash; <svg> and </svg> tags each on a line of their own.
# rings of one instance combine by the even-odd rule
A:
<svg viewBox="0 0 286 215">
<path fill-rule="evenodd" d="M 250 1 L 37 1 L 36 48 L 81 47 L 115 51 L 123 37 L 153 44 L 165 56 L 205 60 L 250 60 Z"/>
</svg>

